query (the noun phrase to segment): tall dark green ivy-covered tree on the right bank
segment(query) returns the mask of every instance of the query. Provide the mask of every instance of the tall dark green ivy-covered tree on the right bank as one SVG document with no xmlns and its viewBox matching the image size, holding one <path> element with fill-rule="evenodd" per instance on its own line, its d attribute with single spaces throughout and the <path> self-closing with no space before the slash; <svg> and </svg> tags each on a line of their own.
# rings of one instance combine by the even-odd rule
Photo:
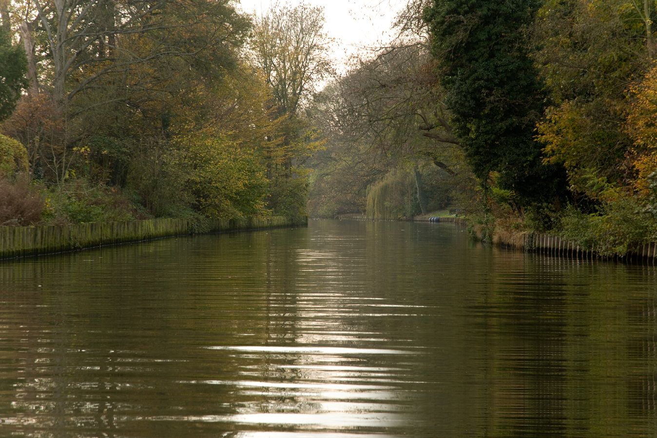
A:
<svg viewBox="0 0 657 438">
<path fill-rule="evenodd" d="M 544 96 L 524 31 L 537 7 L 537 0 L 436 0 L 425 16 L 468 162 L 485 186 L 495 175 L 521 207 L 554 200 L 565 186 L 534 139 Z"/>
</svg>

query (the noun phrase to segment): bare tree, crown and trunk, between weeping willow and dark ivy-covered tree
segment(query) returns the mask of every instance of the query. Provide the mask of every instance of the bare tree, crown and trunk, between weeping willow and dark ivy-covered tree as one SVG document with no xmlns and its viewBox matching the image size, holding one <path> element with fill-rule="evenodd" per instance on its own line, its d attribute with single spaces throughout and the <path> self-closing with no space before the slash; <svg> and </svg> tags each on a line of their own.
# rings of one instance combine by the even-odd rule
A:
<svg viewBox="0 0 657 438">
<path fill-rule="evenodd" d="M 441 89 L 432 70 L 433 62 L 422 40 L 397 41 L 373 58 L 361 60 L 336 82 L 337 95 L 329 98 L 334 102 L 334 126 L 328 129 L 337 131 L 341 141 L 349 145 L 341 156 L 359 155 L 361 164 L 369 163 L 369 170 L 359 173 L 376 175 L 377 179 L 391 168 L 405 168 L 416 188 L 414 205 L 422 213 L 427 212 L 428 204 L 419 168 L 436 165 L 450 177 L 464 170 L 459 162 L 459 141 L 447 123 Z M 361 150 L 359 144 L 367 144 L 367 150 Z M 364 158 L 365 154 L 372 159 Z M 367 186 L 374 181 L 367 178 L 363 182 Z"/>
</svg>

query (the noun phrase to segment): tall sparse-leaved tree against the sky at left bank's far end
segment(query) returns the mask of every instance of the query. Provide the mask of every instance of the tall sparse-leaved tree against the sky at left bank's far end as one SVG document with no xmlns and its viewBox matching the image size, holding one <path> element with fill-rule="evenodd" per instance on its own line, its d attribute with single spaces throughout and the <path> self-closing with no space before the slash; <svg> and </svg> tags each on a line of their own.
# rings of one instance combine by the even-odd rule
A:
<svg viewBox="0 0 657 438">
<path fill-rule="evenodd" d="M 303 3 L 294 8 L 275 6 L 266 16 L 255 18 L 252 59 L 271 86 L 271 106 L 282 118 L 283 141 L 267 157 L 269 206 L 278 212 L 298 215 L 306 209 L 303 165 L 321 141 L 301 110 L 319 81 L 332 72 L 323 26 L 323 9 Z"/>
</svg>

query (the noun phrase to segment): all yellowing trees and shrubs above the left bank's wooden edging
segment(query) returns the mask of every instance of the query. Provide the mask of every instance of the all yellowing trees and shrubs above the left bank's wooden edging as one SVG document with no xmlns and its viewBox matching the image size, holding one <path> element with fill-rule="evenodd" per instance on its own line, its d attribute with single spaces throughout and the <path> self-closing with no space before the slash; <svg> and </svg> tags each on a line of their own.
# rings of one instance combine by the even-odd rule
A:
<svg viewBox="0 0 657 438">
<path fill-rule="evenodd" d="M 0 1 L 0 225 L 305 215 L 323 22 L 307 5 Z"/>
</svg>

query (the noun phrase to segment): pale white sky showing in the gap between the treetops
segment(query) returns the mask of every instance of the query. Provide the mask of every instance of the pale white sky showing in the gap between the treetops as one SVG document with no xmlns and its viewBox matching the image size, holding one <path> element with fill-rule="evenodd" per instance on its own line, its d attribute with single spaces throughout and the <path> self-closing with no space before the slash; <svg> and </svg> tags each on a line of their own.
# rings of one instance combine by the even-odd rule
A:
<svg viewBox="0 0 657 438">
<path fill-rule="evenodd" d="M 275 0 L 238 0 L 242 11 L 266 14 Z M 279 5 L 296 6 L 300 0 L 280 0 Z M 303 3 L 324 8 L 325 32 L 336 40 L 335 67 L 344 72 L 351 55 L 364 47 L 388 43 L 394 37 L 390 28 L 407 0 L 306 0 Z"/>
</svg>

